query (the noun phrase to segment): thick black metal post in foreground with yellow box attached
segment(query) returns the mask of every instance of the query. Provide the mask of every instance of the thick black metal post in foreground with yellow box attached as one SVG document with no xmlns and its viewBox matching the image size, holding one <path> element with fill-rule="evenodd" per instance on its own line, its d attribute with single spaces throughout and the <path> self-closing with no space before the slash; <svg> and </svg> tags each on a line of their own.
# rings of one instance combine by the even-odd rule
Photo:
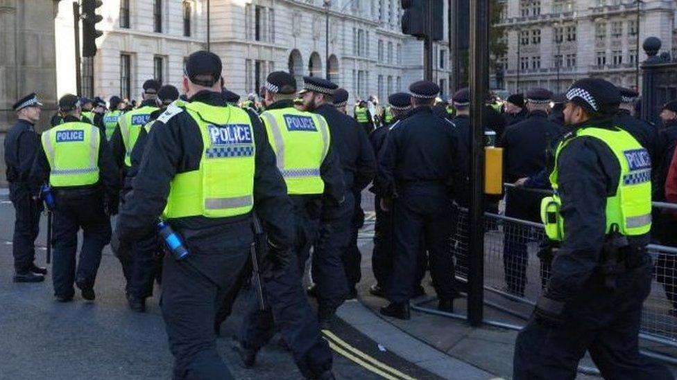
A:
<svg viewBox="0 0 677 380">
<path fill-rule="evenodd" d="M 468 273 L 468 321 L 480 326 L 484 304 L 484 218 L 483 218 L 483 125 L 484 96 L 489 72 L 489 1 L 470 0 L 470 270 Z"/>
</svg>

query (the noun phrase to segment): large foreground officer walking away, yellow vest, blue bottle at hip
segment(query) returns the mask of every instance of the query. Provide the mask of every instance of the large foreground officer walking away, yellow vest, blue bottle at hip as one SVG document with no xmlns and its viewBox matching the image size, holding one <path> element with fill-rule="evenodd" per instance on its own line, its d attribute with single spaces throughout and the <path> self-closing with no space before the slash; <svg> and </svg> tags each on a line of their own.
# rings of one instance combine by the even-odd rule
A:
<svg viewBox="0 0 677 380">
<path fill-rule="evenodd" d="M 221 59 L 189 56 L 189 102 L 157 118 L 117 221 L 120 244 L 157 230 L 162 217 L 187 248 L 162 264 L 162 316 L 174 379 L 232 379 L 216 350 L 214 317 L 223 294 L 250 268 L 256 208 L 268 233 L 273 273 L 292 257 L 291 201 L 266 131 L 253 112 L 228 105 Z"/>
</svg>

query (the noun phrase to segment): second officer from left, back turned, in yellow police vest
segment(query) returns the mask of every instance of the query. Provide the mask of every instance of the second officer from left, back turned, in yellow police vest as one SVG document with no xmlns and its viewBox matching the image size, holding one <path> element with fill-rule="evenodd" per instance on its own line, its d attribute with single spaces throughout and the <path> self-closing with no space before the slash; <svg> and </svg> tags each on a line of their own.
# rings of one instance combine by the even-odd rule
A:
<svg viewBox="0 0 677 380">
<path fill-rule="evenodd" d="M 78 97 L 63 96 L 59 109 L 64 123 L 42 134 L 42 149 L 31 169 L 31 188 L 37 194 L 47 181 L 55 199 L 52 280 L 56 300 L 72 300 L 74 282 L 85 300 L 94 300 L 101 250 L 110 242 L 108 205 L 117 204 L 117 168 L 103 132 L 80 121 Z M 84 239 L 76 266 L 80 228 Z"/>
</svg>

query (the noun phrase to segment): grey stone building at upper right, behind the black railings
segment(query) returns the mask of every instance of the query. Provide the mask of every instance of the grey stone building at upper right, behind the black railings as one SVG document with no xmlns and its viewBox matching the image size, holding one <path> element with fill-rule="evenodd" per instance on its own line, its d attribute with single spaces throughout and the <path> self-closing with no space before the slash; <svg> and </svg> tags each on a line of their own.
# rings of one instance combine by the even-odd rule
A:
<svg viewBox="0 0 677 380">
<path fill-rule="evenodd" d="M 634 88 L 637 59 L 646 60 L 642 50 L 646 37 L 659 37 L 662 51 L 673 55 L 677 48 L 675 1 L 506 0 L 504 4 L 500 25 L 506 30 L 508 53 L 499 62 L 511 92 L 533 87 L 565 91 L 574 80 L 588 76 Z M 639 84 L 641 88 L 641 73 Z"/>
</svg>

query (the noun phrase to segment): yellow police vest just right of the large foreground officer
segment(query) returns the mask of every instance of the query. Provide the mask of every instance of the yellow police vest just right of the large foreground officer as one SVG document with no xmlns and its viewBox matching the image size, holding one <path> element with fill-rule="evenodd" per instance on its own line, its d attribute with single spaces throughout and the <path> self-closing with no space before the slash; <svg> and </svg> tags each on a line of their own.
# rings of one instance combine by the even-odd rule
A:
<svg viewBox="0 0 677 380">
<path fill-rule="evenodd" d="M 325 118 L 289 107 L 264 111 L 261 119 L 287 194 L 322 194 L 325 182 L 320 177 L 320 167 L 330 143 Z"/>
</svg>

